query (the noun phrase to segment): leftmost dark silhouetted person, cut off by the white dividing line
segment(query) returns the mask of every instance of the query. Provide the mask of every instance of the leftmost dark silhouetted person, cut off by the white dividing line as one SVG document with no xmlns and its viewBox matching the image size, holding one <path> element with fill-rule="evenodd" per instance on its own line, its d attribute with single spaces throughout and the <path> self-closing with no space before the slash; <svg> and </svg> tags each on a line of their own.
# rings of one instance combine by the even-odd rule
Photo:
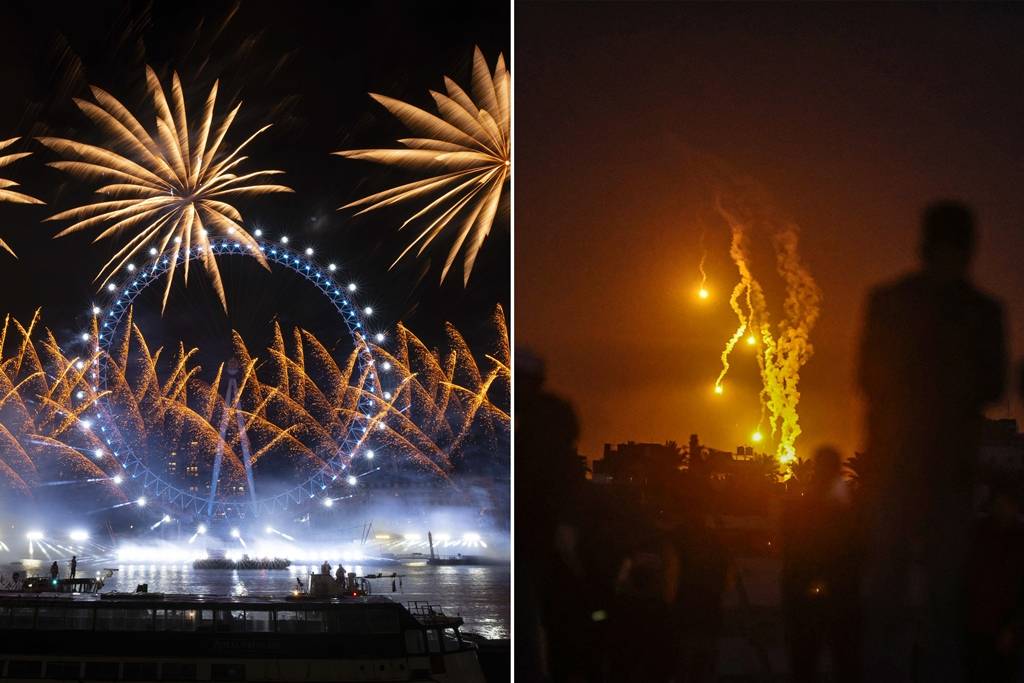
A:
<svg viewBox="0 0 1024 683">
<path fill-rule="evenodd" d="M 584 471 L 575 457 L 572 407 L 544 389 L 543 361 L 516 352 L 515 497 L 516 674 L 529 681 L 599 680 L 599 634 L 607 618 L 595 599 L 590 535 L 581 505 Z M 596 595 L 600 593 L 600 595 Z"/>
</svg>

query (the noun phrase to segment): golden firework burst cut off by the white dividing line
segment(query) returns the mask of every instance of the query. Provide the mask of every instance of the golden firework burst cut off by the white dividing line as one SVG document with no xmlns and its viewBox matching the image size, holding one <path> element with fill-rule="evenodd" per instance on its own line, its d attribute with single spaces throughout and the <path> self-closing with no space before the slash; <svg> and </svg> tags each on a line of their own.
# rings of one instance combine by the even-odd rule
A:
<svg viewBox="0 0 1024 683">
<path fill-rule="evenodd" d="M 417 256 L 422 255 L 452 225 L 455 238 L 441 270 L 441 282 L 463 249 L 463 283 L 469 282 L 512 172 L 510 82 L 503 55 L 498 55 L 498 63 L 490 73 L 480 49 L 475 48 L 472 97 L 447 77 L 444 78 L 446 95 L 430 91 L 440 116 L 370 93 L 419 137 L 398 140 L 406 145 L 404 150 L 351 150 L 335 154 L 434 173 L 341 207 L 362 207 L 358 212 L 361 214 L 401 202 L 429 200 L 401 224 L 406 227 L 419 221 L 423 227 L 394 263 L 417 247 Z"/>
</svg>

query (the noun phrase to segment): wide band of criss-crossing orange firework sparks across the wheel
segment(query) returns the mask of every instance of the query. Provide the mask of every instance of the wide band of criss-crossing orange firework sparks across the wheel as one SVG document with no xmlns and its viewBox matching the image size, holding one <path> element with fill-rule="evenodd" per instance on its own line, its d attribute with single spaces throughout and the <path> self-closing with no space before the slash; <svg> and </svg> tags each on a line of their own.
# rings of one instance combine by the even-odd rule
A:
<svg viewBox="0 0 1024 683">
<path fill-rule="evenodd" d="M 346 456 L 346 466 L 373 443 L 398 463 L 447 478 L 478 435 L 509 429 L 509 343 L 501 308 L 495 314 L 496 348 L 483 356 L 490 366 L 484 371 L 452 327 L 444 360 L 402 328 L 402 343 L 393 354 L 361 341 L 340 365 L 305 331 L 293 332 L 291 349 L 288 337 L 280 335 L 263 362 L 236 333 L 240 391 L 230 403 L 221 393 L 223 364 L 212 382 L 204 382 L 194 361 L 197 349 L 179 343 L 170 355 L 152 350 L 131 315 L 129 310 L 110 353 L 83 359 L 65 356 L 48 331 L 35 342 L 38 314 L 28 328 L 7 318 L 0 329 L 0 481 L 29 496 L 39 468 L 59 462 L 78 472 L 79 480 L 101 482 L 117 500 L 127 500 L 112 483 L 124 474 L 120 460 L 88 457 L 105 450 L 93 430 L 83 427 L 93 411 L 105 412 L 108 435 L 142 453 L 175 451 L 188 464 L 209 467 L 220 447 L 224 467 L 218 488 L 224 492 L 246 481 L 243 439 L 252 442 L 254 464 L 281 460 L 310 474 L 340 453 L 352 427 L 366 421 L 369 429 Z M 8 344 L 8 336 L 20 336 L 22 343 Z M 12 351 L 7 357 L 5 348 Z M 374 362 L 359 370 L 366 352 Z M 97 368 L 106 378 L 103 391 L 90 381 Z M 223 437 L 222 423 L 228 425 Z"/>
</svg>

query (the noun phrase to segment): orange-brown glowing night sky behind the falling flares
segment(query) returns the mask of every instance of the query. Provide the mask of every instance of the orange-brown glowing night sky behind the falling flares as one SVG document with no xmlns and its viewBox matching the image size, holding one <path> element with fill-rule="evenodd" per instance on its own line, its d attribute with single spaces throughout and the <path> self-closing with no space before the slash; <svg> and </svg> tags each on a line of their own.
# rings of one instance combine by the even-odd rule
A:
<svg viewBox="0 0 1024 683">
<path fill-rule="evenodd" d="M 711 394 L 735 327 L 728 232 L 710 211 L 723 185 L 756 183 L 801 225 L 823 291 L 799 455 L 860 443 L 862 300 L 915 264 L 930 200 L 976 208 L 976 278 L 1006 302 L 1019 355 L 1021 35 L 1020 4 L 519 5 L 516 341 L 575 403 L 582 452 L 693 431 L 717 447 L 749 441 L 749 351 L 736 349 L 727 395 Z M 777 319 L 768 237 L 755 240 Z"/>
</svg>

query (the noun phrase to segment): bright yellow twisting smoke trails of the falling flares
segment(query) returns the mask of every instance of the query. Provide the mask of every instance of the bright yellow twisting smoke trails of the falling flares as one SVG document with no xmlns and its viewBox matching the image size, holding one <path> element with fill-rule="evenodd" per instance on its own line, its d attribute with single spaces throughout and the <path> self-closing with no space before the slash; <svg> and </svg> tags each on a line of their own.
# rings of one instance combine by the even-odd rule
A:
<svg viewBox="0 0 1024 683">
<path fill-rule="evenodd" d="M 729 354 L 749 334 L 761 345 L 758 367 L 762 381 L 762 422 L 767 415 L 771 433 L 776 437 L 776 456 L 780 463 L 788 464 L 796 459 L 796 441 L 801 433 L 797 413 L 800 371 L 814 351 L 810 335 L 820 312 L 821 290 L 800 257 L 800 229 L 795 223 L 755 218 L 752 211 L 727 209 L 721 200 L 717 210 L 731 232 L 729 255 L 739 271 L 739 282 L 729 298 L 738 326 L 722 351 L 716 391 L 721 393 L 729 371 Z M 785 289 L 782 316 L 774 329 L 764 290 L 751 267 L 750 233 L 757 226 L 764 226 L 771 233 L 775 267 Z M 760 428 L 757 433 L 760 434 Z"/>
</svg>

